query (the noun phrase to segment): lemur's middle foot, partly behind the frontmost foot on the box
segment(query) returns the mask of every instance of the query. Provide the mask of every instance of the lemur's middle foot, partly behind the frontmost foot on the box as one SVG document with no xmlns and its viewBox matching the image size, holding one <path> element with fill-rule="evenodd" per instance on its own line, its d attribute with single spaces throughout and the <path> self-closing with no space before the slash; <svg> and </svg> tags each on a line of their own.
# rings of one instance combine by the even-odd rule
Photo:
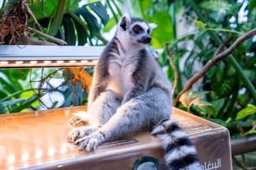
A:
<svg viewBox="0 0 256 170">
<path fill-rule="evenodd" d="M 91 126 L 81 126 L 77 127 L 73 131 L 68 133 L 68 141 L 75 142 L 79 138 L 83 138 L 84 136 L 88 136 L 92 134 L 92 132 L 97 131 L 97 128 Z"/>
</svg>

